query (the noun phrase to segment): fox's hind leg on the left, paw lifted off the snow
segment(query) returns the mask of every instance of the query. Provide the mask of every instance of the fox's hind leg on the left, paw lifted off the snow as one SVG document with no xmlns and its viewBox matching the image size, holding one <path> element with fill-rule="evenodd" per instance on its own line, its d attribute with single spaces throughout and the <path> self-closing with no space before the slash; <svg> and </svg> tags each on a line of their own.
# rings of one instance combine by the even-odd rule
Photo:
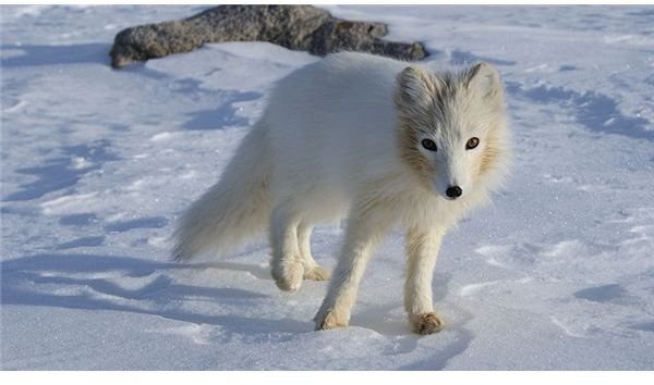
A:
<svg viewBox="0 0 654 385">
<path fill-rule="evenodd" d="M 304 276 L 303 259 L 298 244 L 300 219 L 291 207 L 279 204 L 270 216 L 270 272 L 277 286 L 287 291 L 299 289 Z"/>
</svg>

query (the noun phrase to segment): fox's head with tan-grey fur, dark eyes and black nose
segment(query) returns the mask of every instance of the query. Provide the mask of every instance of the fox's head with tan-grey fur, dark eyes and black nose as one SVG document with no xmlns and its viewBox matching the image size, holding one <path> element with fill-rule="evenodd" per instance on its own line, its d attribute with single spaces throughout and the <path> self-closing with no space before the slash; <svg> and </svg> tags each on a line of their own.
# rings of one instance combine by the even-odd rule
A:
<svg viewBox="0 0 654 385">
<path fill-rule="evenodd" d="M 501 179 L 509 139 L 493 66 L 438 74 L 408 66 L 397 77 L 395 102 L 400 157 L 427 188 L 453 200 Z"/>
</svg>

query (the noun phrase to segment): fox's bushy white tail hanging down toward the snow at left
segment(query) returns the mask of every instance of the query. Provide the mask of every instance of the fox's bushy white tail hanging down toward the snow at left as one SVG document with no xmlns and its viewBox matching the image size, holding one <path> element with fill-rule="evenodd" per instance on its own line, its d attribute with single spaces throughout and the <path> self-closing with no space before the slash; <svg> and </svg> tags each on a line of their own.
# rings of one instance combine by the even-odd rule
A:
<svg viewBox="0 0 654 385">
<path fill-rule="evenodd" d="M 259 122 L 243 138 L 220 181 L 180 219 L 173 235 L 174 260 L 207 251 L 223 253 L 261 235 L 270 218 L 271 163 L 266 131 Z"/>
</svg>

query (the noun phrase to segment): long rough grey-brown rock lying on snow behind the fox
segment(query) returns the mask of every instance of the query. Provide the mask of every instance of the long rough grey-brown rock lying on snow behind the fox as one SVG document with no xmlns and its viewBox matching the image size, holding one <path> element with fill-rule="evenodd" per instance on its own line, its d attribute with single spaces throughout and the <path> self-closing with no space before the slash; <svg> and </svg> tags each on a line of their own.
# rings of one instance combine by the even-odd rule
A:
<svg viewBox="0 0 654 385">
<path fill-rule="evenodd" d="M 340 50 L 364 51 L 420 60 L 420 42 L 383 40 L 385 24 L 332 17 L 311 5 L 222 5 L 182 21 L 126 28 L 116 36 L 111 65 L 124 65 L 189 52 L 205 42 L 269 41 L 292 50 L 325 55 Z"/>
</svg>

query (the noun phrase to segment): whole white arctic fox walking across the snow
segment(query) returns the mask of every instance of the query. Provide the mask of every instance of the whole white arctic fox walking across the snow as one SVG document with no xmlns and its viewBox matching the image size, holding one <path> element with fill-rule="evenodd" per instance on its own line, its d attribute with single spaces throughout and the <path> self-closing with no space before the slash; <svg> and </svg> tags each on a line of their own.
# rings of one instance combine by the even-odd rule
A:
<svg viewBox="0 0 654 385">
<path fill-rule="evenodd" d="M 432 275 L 446 231 L 487 199 L 508 169 L 504 88 L 486 63 L 434 72 L 336 53 L 279 82 L 220 181 L 182 215 L 177 260 L 225 252 L 268 231 L 282 290 L 328 280 L 312 227 L 348 218 L 316 330 L 347 326 L 383 236 L 407 231 L 404 307 L 415 333 L 441 328 Z"/>
</svg>

